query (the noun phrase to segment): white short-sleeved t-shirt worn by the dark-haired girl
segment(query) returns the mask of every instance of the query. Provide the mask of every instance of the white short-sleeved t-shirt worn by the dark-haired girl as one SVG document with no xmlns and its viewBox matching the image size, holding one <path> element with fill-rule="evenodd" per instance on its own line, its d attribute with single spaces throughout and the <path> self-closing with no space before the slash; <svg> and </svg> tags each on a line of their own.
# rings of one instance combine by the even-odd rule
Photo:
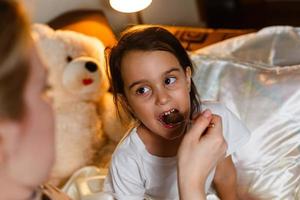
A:
<svg viewBox="0 0 300 200">
<path fill-rule="evenodd" d="M 202 103 L 202 110 L 209 108 L 222 117 L 223 134 L 228 144 L 227 155 L 249 140 L 249 131 L 224 105 L 217 102 Z M 192 161 L 191 161 L 192 164 Z M 208 191 L 215 169 L 206 180 Z M 121 141 L 112 156 L 104 190 L 114 193 L 117 199 L 141 200 L 179 199 L 177 187 L 177 158 L 151 155 L 139 138 L 136 127 Z"/>
</svg>

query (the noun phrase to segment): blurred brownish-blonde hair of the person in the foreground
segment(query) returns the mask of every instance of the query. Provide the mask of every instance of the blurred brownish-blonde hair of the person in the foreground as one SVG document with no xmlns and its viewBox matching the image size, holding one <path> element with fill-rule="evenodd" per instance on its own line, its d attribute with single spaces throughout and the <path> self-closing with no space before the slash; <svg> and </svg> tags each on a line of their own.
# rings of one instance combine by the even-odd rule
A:
<svg viewBox="0 0 300 200">
<path fill-rule="evenodd" d="M 19 120 L 30 66 L 30 27 L 17 1 L 0 1 L 0 27 L 0 118 Z"/>
</svg>

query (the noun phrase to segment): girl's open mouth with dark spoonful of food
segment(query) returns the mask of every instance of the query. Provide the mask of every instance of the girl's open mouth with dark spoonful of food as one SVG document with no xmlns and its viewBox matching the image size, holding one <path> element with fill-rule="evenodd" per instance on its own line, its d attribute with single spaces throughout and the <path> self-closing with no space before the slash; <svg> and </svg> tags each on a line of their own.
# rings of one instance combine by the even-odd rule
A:
<svg viewBox="0 0 300 200">
<path fill-rule="evenodd" d="M 160 114 L 159 119 L 164 125 L 174 127 L 184 121 L 184 116 L 179 110 L 172 108 L 171 110 Z"/>
</svg>

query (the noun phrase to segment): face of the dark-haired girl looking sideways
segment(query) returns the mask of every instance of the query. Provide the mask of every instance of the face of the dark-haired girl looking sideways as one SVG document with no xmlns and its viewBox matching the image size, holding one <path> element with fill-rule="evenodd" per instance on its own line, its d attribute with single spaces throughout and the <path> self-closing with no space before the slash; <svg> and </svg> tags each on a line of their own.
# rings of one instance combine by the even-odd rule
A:
<svg viewBox="0 0 300 200">
<path fill-rule="evenodd" d="M 191 69 L 186 71 L 167 51 L 130 51 L 122 59 L 125 97 L 133 115 L 152 133 L 178 138 L 190 116 Z M 164 117 L 180 113 L 183 121 L 167 124 Z"/>
</svg>

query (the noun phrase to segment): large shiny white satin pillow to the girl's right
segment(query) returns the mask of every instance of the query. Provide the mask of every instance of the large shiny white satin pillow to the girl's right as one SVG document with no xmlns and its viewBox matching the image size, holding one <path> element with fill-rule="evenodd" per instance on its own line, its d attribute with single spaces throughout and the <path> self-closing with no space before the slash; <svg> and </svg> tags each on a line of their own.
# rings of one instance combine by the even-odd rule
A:
<svg viewBox="0 0 300 200">
<path fill-rule="evenodd" d="M 223 102 L 248 126 L 233 156 L 240 187 L 296 199 L 300 187 L 300 29 L 267 27 L 191 54 L 201 99 Z"/>
</svg>

